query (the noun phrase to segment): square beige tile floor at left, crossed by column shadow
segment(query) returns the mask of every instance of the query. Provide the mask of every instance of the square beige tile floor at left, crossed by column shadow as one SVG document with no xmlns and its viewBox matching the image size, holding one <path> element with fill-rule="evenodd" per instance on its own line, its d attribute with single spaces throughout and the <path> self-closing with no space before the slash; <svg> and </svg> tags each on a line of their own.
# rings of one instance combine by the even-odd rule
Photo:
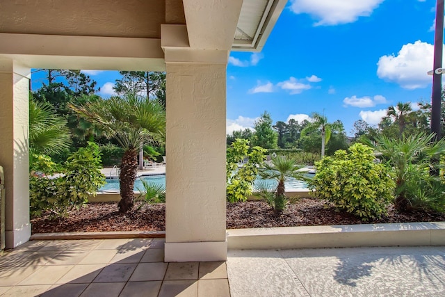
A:
<svg viewBox="0 0 445 297">
<path fill-rule="evenodd" d="M 29 241 L 0 257 L 0 296 L 230 296 L 225 262 L 164 263 L 163 242 Z"/>
</svg>

